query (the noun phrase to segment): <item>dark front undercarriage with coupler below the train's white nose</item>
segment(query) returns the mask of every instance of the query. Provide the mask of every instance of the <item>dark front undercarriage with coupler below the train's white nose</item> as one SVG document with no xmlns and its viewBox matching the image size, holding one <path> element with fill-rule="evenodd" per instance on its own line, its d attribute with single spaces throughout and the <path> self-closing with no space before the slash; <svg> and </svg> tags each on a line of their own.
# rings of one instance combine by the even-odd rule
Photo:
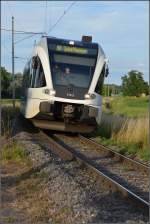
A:
<svg viewBox="0 0 150 224">
<path fill-rule="evenodd" d="M 40 103 L 40 112 L 31 119 L 42 129 L 89 133 L 96 128 L 97 108 L 63 102 Z"/>
</svg>

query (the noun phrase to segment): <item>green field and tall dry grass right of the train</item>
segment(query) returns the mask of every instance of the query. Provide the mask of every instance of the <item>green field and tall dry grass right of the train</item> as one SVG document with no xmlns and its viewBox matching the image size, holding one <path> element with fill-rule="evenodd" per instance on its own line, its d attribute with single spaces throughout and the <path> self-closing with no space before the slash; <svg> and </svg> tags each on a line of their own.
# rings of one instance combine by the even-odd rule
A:
<svg viewBox="0 0 150 224">
<path fill-rule="evenodd" d="M 148 97 L 104 98 L 101 124 L 91 137 L 148 161 L 148 106 Z"/>
</svg>

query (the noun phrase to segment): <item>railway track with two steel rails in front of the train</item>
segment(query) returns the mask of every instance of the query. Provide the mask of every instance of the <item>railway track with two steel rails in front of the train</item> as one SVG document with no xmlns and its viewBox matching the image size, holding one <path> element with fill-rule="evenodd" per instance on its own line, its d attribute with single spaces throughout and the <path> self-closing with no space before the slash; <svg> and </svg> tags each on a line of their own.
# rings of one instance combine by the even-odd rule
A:
<svg viewBox="0 0 150 224">
<path fill-rule="evenodd" d="M 111 192 L 132 199 L 149 211 L 149 167 L 81 135 L 47 135 L 50 148 L 65 160 L 76 158 Z"/>
</svg>

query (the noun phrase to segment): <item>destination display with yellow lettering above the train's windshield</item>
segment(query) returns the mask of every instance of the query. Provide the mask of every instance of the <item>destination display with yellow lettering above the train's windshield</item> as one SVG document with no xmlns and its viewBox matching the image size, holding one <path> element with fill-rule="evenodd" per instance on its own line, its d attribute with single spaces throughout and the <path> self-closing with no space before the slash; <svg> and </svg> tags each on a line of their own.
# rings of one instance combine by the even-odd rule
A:
<svg viewBox="0 0 150 224">
<path fill-rule="evenodd" d="M 61 44 L 49 44 L 49 50 L 71 54 L 97 55 L 97 49 L 75 47 Z"/>
</svg>

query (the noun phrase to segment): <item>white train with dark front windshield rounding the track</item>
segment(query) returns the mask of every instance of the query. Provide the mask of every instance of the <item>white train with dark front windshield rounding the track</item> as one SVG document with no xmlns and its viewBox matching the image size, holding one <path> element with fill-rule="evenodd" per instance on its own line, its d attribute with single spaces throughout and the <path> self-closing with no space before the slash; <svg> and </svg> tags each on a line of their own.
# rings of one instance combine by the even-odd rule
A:
<svg viewBox="0 0 150 224">
<path fill-rule="evenodd" d="M 100 124 L 108 65 L 100 45 L 42 37 L 23 73 L 21 113 L 42 129 L 87 133 Z"/>
</svg>

